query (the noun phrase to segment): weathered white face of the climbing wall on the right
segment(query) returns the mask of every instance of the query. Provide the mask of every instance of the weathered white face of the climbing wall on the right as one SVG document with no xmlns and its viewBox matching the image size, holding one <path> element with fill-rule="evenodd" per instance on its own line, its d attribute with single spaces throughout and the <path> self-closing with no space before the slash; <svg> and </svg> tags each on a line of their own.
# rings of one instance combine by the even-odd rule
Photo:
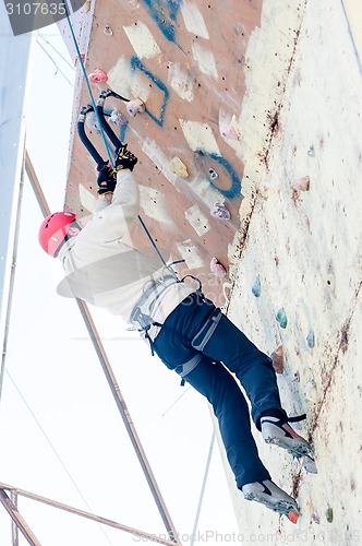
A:
<svg viewBox="0 0 362 546">
<path fill-rule="evenodd" d="M 307 474 L 301 461 L 265 444 L 254 427 L 263 462 L 298 499 L 301 517 L 294 526 L 243 501 L 230 475 L 244 544 L 362 543 L 357 417 L 362 392 L 362 9 L 354 2 L 352 12 L 352 4 L 309 0 L 300 7 L 298 40 L 287 78 L 276 84 L 282 93 L 227 306 L 231 320 L 265 352 L 282 347 L 281 401 L 289 415 L 306 414 L 295 428 L 313 441 L 318 471 Z M 258 82 L 273 75 L 257 57 L 258 45 L 270 44 L 273 55 L 282 55 L 275 49 L 276 22 L 276 11 L 265 2 L 248 50 L 258 59 L 246 85 L 251 111 L 264 99 Z M 245 154 L 244 174 L 248 159 Z"/>
</svg>

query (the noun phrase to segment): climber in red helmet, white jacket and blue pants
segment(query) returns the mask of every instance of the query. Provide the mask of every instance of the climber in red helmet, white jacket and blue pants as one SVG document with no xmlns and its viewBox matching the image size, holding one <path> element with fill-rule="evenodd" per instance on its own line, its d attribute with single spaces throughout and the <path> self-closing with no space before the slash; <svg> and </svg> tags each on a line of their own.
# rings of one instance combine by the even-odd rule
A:
<svg viewBox="0 0 362 546">
<path fill-rule="evenodd" d="M 311 455 L 310 443 L 289 425 L 303 416 L 287 416 L 272 359 L 204 297 L 195 277 L 180 280 L 171 266 L 159 266 L 124 242 L 138 214 L 140 193 L 133 176 L 137 158 L 106 129 L 102 98 L 97 110 L 116 147 L 114 168 L 89 146 L 84 109 L 79 122 L 81 139 L 99 170 L 95 214 L 83 228 L 71 212 L 50 214 L 39 230 L 44 250 L 58 257 L 64 268 L 58 293 L 105 308 L 138 330 L 153 353 L 212 404 L 244 498 L 292 521 L 298 518 L 298 503 L 272 480 L 262 463 L 248 404 L 233 376 L 250 400 L 251 417 L 264 440 L 297 458 Z"/>
</svg>

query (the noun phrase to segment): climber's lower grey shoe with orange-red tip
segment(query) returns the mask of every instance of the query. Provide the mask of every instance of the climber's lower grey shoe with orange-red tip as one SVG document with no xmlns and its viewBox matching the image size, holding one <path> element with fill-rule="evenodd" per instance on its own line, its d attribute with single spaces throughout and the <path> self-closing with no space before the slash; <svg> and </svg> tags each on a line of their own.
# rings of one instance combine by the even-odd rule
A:
<svg viewBox="0 0 362 546">
<path fill-rule="evenodd" d="M 286 515 L 290 513 L 299 515 L 299 508 L 295 500 L 270 479 L 246 484 L 242 487 L 242 492 L 244 499 L 261 502 L 269 510 Z"/>
</svg>

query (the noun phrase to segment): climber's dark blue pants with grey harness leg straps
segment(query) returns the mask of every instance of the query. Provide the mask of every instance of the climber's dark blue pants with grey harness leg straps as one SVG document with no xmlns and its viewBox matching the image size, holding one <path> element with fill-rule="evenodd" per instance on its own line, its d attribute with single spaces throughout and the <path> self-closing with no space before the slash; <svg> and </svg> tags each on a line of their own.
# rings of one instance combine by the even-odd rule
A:
<svg viewBox="0 0 362 546">
<path fill-rule="evenodd" d="M 258 430 L 262 414 L 285 416 L 286 413 L 280 405 L 270 358 L 225 314 L 221 313 L 214 333 L 203 346 L 202 335 L 208 331 L 207 323 L 212 324 L 218 313 L 221 311 L 212 301 L 192 294 L 169 314 L 154 342 L 154 349 L 168 368 L 179 372 L 184 363 L 200 356 L 200 363 L 184 380 L 212 404 L 237 486 L 241 488 L 245 484 L 270 479 L 270 475 L 258 458 L 249 407 L 230 371 L 250 400 L 251 415 Z M 197 351 L 195 345 L 202 348 Z"/>
</svg>

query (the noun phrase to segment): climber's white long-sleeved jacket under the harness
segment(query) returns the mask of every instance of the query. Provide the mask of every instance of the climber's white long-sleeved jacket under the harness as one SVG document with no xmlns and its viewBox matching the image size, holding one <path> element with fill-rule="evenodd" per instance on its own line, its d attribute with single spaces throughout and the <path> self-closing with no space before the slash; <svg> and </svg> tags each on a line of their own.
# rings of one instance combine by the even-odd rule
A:
<svg viewBox="0 0 362 546">
<path fill-rule="evenodd" d="M 98 199 L 93 218 L 61 248 L 59 258 L 65 278 L 58 285 L 58 294 L 84 299 L 130 323 L 131 312 L 147 284 L 164 272 L 156 259 L 122 241 L 138 210 L 138 187 L 131 171 L 121 170 L 111 201 Z M 168 287 L 157 300 L 153 319 L 164 323 L 197 287 L 196 282 Z"/>
</svg>

